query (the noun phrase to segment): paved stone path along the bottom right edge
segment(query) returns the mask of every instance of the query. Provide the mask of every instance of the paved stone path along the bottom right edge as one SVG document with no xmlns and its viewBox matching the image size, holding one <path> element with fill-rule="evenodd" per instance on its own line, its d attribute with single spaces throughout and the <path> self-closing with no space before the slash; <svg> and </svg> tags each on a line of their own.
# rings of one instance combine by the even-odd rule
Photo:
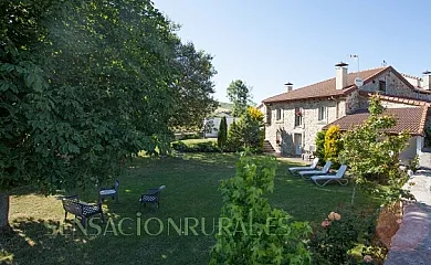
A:
<svg viewBox="0 0 431 265">
<path fill-rule="evenodd" d="M 404 208 L 385 265 L 431 264 L 431 171 L 419 170 L 406 186 L 418 202 Z"/>
</svg>

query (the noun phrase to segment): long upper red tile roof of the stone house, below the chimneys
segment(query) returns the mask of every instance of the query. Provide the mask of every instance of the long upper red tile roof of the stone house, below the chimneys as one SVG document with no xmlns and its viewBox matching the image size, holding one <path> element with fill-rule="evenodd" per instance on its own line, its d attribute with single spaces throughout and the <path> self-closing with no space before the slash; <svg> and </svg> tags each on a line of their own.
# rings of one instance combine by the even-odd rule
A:
<svg viewBox="0 0 431 265">
<path fill-rule="evenodd" d="M 370 82 L 374 77 L 380 73 L 391 68 L 390 66 L 365 70 L 359 72 L 359 77 L 362 78 L 364 84 Z M 344 89 L 335 88 L 335 77 L 323 81 L 313 85 L 304 86 L 291 92 L 286 92 L 273 97 L 269 97 L 263 103 L 275 103 L 286 100 L 297 100 L 304 98 L 318 98 L 318 97 L 330 97 L 330 96 L 344 96 L 356 89 L 355 78 L 358 76 L 357 73 L 349 73 L 347 77 L 347 86 Z M 406 81 L 407 82 L 407 81 Z"/>
</svg>

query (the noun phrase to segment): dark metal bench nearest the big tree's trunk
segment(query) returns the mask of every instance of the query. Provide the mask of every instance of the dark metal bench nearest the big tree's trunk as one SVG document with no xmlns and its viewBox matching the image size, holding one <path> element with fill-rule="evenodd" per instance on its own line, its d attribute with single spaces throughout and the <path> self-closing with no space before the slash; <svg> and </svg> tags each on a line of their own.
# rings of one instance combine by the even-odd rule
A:
<svg viewBox="0 0 431 265">
<path fill-rule="evenodd" d="M 105 222 L 105 218 L 102 211 L 102 203 L 90 204 L 82 202 L 77 195 L 64 197 L 62 199 L 62 203 L 65 212 L 64 220 L 67 219 L 67 213 L 72 213 L 75 215 L 75 221 L 76 218 L 80 218 L 81 224 L 85 226 L 88 218 L 101 214 L 102 222 Z"/>
</svg>

